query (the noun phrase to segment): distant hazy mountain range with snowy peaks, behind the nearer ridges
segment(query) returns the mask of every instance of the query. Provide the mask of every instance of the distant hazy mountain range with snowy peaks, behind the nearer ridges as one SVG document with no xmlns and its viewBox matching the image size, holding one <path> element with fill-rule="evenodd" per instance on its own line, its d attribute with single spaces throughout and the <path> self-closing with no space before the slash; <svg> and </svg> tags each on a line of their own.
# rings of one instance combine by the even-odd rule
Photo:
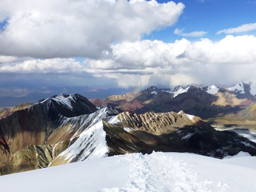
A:
<svg viewBox="0 0 256 192">
<path fill-rule="evenodd" d="M 115 100 L 92 100 L 95 105 L 108 104 L 119 108 L 124 112 L 143 114 L 151 112 L 178 112 L 209 118 L 218 116 L 220 113 L 231 113 L 240 109 L 240 106 L 249 104 L 255 98 L 248 91 L 248 86 L 243 84 L 241 90 L 231 91 L 227 88 L 209 86 L 199 88 L 191 85 L 188 88 L 177 86 L 174 89 L 160 89 L 155 86 L 149 87 L 140 93 L 125 99 Z M 118 97 L 117 97 L 118 98 Z"/>
</svg>

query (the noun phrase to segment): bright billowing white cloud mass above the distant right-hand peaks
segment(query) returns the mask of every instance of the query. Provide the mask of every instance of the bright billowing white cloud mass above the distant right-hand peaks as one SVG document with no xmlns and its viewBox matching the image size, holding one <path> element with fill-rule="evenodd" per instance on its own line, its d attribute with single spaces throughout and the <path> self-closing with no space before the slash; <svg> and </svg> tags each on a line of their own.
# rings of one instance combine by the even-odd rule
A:
<svg viewBox="0 0 256 192">
<path fill-rule="evenodd" d="M 219 42 L 122 42 L 110 57 L 87 60 L 85 71 L 115 79 L 119 86 L 236 83 L 254 79 L 256 37 L 228 35 Z"/>
</svg>

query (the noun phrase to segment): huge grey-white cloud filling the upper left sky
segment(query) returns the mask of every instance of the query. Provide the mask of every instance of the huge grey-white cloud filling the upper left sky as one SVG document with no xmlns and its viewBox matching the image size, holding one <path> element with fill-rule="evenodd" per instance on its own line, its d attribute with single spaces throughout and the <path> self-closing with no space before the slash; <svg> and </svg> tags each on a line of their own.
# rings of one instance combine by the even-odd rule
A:
<svg viewBox="0 0 256 192">
<path fill-rule="evenodd" d="M 109 44 L 172 26 L 184 4 L 155 0 L 0 1 L 0 55 L 99 58 Z"/>
</svg>

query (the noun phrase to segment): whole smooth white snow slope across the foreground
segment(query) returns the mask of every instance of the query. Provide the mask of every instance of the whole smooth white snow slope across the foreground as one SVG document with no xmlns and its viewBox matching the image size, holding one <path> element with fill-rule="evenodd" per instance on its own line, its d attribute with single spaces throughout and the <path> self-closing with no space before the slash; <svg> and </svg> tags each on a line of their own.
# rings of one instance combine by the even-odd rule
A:
<svg viewBox="0 0 256 192">
<path fill-rule="evenodd" d="M 4 175 L 0 184 L 1 191 L 256 191 L 255 173 L 254 156 L 153 152 Z"/>
</svg>

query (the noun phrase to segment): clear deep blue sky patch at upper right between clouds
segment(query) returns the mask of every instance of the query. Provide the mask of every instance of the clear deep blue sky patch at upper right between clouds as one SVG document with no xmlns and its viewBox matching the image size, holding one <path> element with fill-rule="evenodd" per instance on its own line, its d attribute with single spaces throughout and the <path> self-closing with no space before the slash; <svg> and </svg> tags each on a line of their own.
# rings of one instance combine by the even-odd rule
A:
<svg viewBox="0 0 256 192">
<path fill-rule="evenodd" d="M 168 1 L 158 1 L 166 3 Z M 225 28 L 236 28 L 247 23 L 255 23 L 256 21 L 256 1 L 247 0 L 183 0 L 174 1 L 182 2 L 185 5 L 183 13 L 179 17 L 179 21 L 172 27 L 165 28 L 160 31 L 153 31 L 150 35 L 144 36 L 143 39 L 158 39 L 166 43 L 182 38 L 173 34 L 175 28 L 185 28 L 184 32 L 206 31 L 203 37 L 212 41 L 219 41 L 226 34 L 216 35 L 216 32 Z M 256 31 L 244 33 L 236 33 L 235 35 L 256 35 Z M 191 41 L 198 40 L 201 37 L 186 37 Z"/>
</svg>

